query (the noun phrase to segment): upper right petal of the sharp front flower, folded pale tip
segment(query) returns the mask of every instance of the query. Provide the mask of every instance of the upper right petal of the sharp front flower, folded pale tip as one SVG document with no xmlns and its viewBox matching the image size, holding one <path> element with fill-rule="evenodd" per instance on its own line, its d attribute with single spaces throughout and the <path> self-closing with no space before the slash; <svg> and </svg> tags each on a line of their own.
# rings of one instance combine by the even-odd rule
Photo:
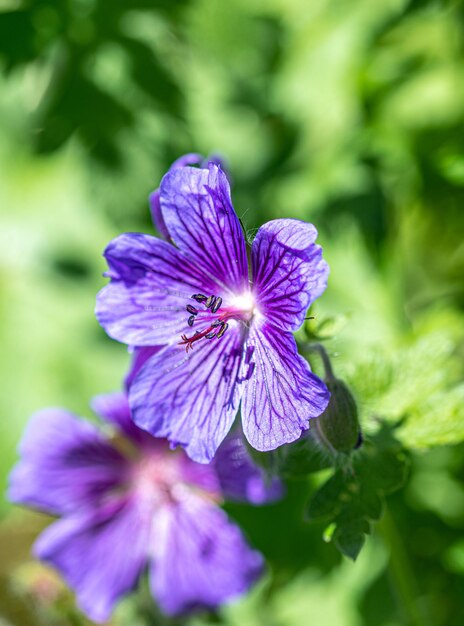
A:
<svg viewBox="0 0 464 626">
<path fill-rule="evenodd" d="M 312 302 L 327 286 L 329 266 L 314 242 L 312 224 L 293 219 L 267 222 L 258 230 L 251 257 L 260 312 L 284 330 L 297 330 Z"/>
</svg>

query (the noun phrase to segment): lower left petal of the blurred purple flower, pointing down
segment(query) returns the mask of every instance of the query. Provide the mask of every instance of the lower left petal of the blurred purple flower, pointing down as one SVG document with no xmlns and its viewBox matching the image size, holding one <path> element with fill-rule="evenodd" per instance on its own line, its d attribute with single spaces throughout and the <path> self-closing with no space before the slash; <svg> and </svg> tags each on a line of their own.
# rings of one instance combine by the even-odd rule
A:
<svg viewBox="0 0 464 626">
<path fill-rule="evenodd" d="M 148 510 L 119 499 L 55 522 L 34 553 L 61 572 L 90 619 L 104 622 L 147 564 L 151 522 Z"/>
</svg>

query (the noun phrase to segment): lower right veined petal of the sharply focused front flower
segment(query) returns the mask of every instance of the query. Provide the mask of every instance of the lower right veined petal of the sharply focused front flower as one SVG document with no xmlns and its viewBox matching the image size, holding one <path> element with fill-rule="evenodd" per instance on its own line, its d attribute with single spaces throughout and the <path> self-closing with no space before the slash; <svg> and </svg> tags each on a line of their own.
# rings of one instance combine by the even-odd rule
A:
<svg viewBox="0 0 464 626">
<path fill-rule="evenodd" d="M 291 333 L 255 324 L 247 346 L 255 370 L 242 399 L 243 431 L 256 450 L 274 450 L 309 428 L 309 420 L 326 408 L 329 392 L 298 354 Z"/>
</svg>

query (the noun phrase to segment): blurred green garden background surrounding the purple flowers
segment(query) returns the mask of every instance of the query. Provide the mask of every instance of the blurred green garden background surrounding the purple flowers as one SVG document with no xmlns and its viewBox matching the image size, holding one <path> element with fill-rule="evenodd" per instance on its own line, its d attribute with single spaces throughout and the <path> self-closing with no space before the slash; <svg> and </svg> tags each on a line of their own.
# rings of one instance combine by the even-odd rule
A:
<svg viewBox="0 0 464 626">
<path fill-rule="evenodd" d="M 89 415 L 120 385 L 128 356 L 93 317 L 104 246 L 151 231 L 175 158 L 218 154 L 250 234 L 318 227 L 331 278 L 312 330 L 411 469 L 356 563 L 303 522 L 318 476 L 230 507 L 270 574 L 215 619 L 461 626 L 463 51 L 457 1 L 0 0 L 2 492 L 32 412 Z M 82 624 L 29 561 L 42 518 L 1 512 L 0 624 Z M 141 592 L 115 623 L 158 623 L 149 606 Z"/>
</svg>

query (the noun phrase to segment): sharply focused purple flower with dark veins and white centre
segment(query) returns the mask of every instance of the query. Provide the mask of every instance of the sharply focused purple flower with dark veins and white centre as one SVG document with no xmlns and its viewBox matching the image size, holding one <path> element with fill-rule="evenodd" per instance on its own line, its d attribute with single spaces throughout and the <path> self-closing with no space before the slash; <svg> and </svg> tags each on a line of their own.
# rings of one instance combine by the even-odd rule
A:
<svg viewBox="0 0 464 626">
<path fill-rule="evenodd" d="M 129 381 L 133 419 L 202 463 L 240 401 L 254 448 L 295 441 L 329 400 L 292 334 L 327 283 L 316 229 L 293 219 L 264 224 L 249 267 L 218 165 L 174 167 L 156 202 L 169 241 L 114 239 L 105 250 L 111 281 L 96 308 L 111 337 L 142 350 L 143 367 Z"/>
</svg>

